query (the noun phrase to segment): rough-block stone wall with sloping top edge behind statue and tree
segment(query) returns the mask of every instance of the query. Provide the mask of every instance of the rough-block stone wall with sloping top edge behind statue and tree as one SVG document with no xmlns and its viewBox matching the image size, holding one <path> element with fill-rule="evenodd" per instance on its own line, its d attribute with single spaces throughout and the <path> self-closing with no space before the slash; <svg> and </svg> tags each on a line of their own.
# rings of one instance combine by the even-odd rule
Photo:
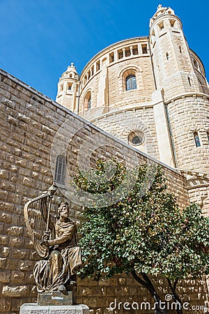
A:
<svg viewBox="0 0 209 314">
<path fill-rule="evenodd" d="M 68 170 L 72 175 L 79 166 L 78 156 L 83 152 L 84 142 L 87 140 L 88 143 L 91 138 L 96 138 L 96 148 L 88 147 L 93 160 L 118 156 L 127 164 L 134 165 L 148 159 L 3 70 L 0 75 L 0 313 L 17 314 L 21 304 L 34 302 L 37 297 L 32 271 L 38 257 L 24 225 L 23 207 L 27 200 L 40 195 L 52 184 L 50 154 L 54 137 L 62 124 L 66 120 L 69 122 Z M 87 160 L 88 156 L 82 158 Z M 169 190 L 176 193 L 180 205 L 185 206 L 189 202 L 184 188 L 185 178 L 170 168 L 162 167 L 168 178 Z M 63 197 L 59 191 L 57 196 Z M 78 219 L 80 207 L 77 204 L 71 206 L 72 216 Z M 160 292 L 166 293 L 162 281 L 155 281 Z M 189 298 L 194 304 L 205 295 L 203 281 L 182 285 L 179 291 L 184 299 Z M 93 313 L 107 313 L 109 302 L 114 299 L 122 302 L 149 301 L 148 292 L 132 278 L 118 276 L 99 283 L 79 281 L 78 302 L 90 306 Z"/>
</svg>

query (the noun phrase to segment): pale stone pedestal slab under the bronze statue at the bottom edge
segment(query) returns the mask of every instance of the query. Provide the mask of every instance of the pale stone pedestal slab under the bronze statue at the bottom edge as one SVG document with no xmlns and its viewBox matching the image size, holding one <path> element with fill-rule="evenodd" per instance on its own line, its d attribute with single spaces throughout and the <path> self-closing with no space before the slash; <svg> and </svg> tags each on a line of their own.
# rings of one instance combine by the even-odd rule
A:
<svg viewBox="0 0 209 314">
<path fill-rule="evenodd" d="M 85 304 L 74 306 L 40 306 L 36 303 L 22 304 L 20 314 L 88 314 L 89 308 Z"/>
</svg>

